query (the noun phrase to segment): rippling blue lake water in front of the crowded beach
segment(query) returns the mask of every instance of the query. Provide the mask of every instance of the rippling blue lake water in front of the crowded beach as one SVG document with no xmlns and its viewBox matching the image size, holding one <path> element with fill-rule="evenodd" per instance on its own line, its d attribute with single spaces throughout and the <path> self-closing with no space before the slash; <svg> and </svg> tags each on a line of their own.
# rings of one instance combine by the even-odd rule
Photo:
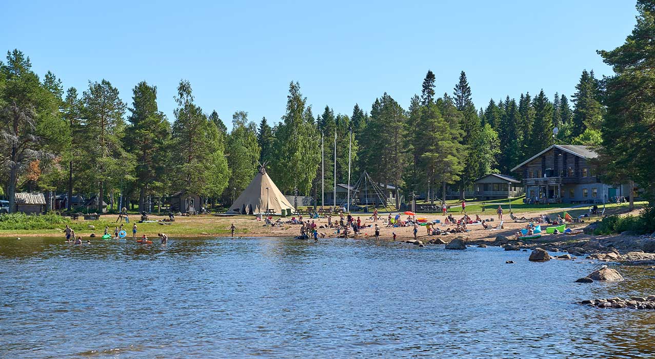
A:
<svg viewBox="0 0 655 359">
<path fill-rule="evenodd" d="M 0 239 L 0 358 L 652 358 L 655 271 L 369 240 Z M 506 264 L 513 260 L 515 264 Z"/>
</svg>

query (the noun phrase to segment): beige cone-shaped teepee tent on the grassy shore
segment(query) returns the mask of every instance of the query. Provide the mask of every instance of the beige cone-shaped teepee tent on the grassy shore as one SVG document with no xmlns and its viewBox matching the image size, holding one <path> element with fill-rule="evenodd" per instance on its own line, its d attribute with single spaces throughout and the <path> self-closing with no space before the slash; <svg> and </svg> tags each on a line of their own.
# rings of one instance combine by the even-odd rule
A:
<svg viewBox="0 0 655 359">
<path fill-rule="evenodd" d="M 258 214 L 273 210 L 275 214 L 282 214 L 282 210 L 286 209 L 295 210 L 273 183 L 264 166 L 261 166 L 255 178 L 236 198 L 227 213 Z"/>
</svg>

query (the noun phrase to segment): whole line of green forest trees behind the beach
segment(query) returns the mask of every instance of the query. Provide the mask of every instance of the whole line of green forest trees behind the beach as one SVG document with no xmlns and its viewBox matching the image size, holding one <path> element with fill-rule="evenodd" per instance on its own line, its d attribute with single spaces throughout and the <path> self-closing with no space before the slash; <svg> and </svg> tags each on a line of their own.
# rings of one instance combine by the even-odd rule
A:
<svg viewBox="0 0 655 359">
<path fill-rule="evenodd" d="M 282 192 L 320 198 L 322 170 L 326 192 L 335 178 L 347 181 L 351 144 L 355 180 L 367 171 L 407 195 L 435 197 L 450 185 L 463 198 L 476 178 L 511 174 L 556 142 L 597 147 L 604 178 L 643 183 L 652 198 L 655 56 L 643 49 L 655 33 L 654 10 L 648 1 L 637 9 L 626 43 L 599 52 L 615 75 L 597 79 L 582 71 L 571 98 L 540 90 L 476 107 L 464 71 L 452 92 L 437 97 L 428 70 L 406 108 L 384 92 L 368 111 L 356 104 L 350 115 L 335 114 L 326 105 L 314 115 L 299 83 L 291 82 L 279 123 L 264 117 L 255 124 L 237 111 L 230 131 L 217 111 L 195 104 L 188 81 L 179 83 L 169 121 L 158 109 L 156 86 L 134 86 L 131 105 L 105 79 L 90 81 L 81 94 L 64 91 L 52 72 L 40 79 L 29 58 L 13 50 L 0 62 L 3 190 L 11 202 L 17 189 L 96 193 L 112 206 L 121 193 L 145 210 L 148 196 L 190 191 L 229 205 L 260 162 Z"/>
</svg>

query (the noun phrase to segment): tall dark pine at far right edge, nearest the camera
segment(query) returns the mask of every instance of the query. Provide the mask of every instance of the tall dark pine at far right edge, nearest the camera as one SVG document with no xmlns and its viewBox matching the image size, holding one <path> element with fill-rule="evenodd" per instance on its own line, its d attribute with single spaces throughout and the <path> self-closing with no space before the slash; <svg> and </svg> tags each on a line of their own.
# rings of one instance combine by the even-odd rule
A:
<svg viewBox="0 0 655 359">
<path fill-rule="evenodd" d="M 612 66 L 615 75 L 605 80 L 603 105 L 607 108 L 602 126 L 603 143 L 598 164 L 603 177 L 611 183 L 626 180 L 639 183 L 642 196 L 655 201 L 655 54 L 652 51 L 655 33 L 655 5 L 637 1 L 637 24 L 626 41 L 614 50 L 599 51 L 603 61 Z M 631 196 L 632 199 L 633 196 Z M 652 208 L 652 207 L 651 207 Z M 655 231 L 653 211 L 644 212 L 648 227 Z"/>
</svg>

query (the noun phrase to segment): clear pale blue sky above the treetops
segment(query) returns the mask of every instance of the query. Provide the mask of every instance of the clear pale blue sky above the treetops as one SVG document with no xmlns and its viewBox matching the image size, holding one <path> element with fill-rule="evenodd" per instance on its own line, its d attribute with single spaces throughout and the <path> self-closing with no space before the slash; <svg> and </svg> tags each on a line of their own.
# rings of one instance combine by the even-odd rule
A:
<svg viewBox="0 0 655 359">
<path fill-rule="evenodd" d="M 428 69 L 438 94 L 466 71 L 477 107 L 543 88 L 570 96 L 582 69 L 608 75 L 595 53 L 623 43 L 634 1 L 12 1 L 0 5 L 0 50 L 18 48 L 40 75 L 81 92 L 107 79 L 131 104 L 132 88 L 173 97 L 188 79 L 204 111 L 231 127 L 284 115 L 299 81 L 314 114 L 325 105 L 370 111 L 388 92 L 403 107 Z"/>
</svg>

